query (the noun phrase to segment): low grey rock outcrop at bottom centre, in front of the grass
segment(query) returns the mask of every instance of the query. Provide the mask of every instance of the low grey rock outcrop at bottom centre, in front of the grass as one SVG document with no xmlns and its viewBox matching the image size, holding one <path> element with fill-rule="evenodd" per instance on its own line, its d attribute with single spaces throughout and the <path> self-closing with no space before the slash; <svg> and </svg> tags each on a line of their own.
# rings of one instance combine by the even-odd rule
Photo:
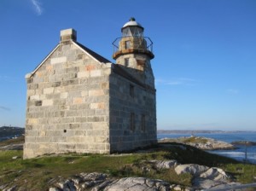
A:
<svg viewBox="0 0 256 191">
<path fill-rule="evenodd" d="M 162 180 L 154 180 L 147 177 L 124 177 L 120 179 L 111 179 L 102 173 L 81 173 L 72 179 L 56 182 L 49 191 L 169 191 L 172 188 L 181 190 L 179 185 L 171 185 Z M 187 191 L 193 190 L 186 188 Z"/>
</svg>

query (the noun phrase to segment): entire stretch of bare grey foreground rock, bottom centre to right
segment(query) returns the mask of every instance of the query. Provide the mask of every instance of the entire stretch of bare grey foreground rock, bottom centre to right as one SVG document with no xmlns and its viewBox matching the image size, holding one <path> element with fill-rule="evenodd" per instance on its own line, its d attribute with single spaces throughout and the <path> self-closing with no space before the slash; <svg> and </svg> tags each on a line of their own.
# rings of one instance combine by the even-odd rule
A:
<svg viewBox="0 0 256 191">
<path fill-rule="evenodd" d="M 222 169 L 205 165 L 179 165 L 176 160 L 145 160 L 144 164 L 151 164 L 158 170 L 174 168 L 177 175 L 189 173 L 192 178 L 192 188 L 170 184 L 162 180 L 147 177 L 124 177 L 114 179 L 102 173 L 81 173 L 71 179 L 55 182 L 49 191 L 167 191 L 167 190 L 197 190 L 205 188 L 229 188 L 231 177 Z"/>
</svg>

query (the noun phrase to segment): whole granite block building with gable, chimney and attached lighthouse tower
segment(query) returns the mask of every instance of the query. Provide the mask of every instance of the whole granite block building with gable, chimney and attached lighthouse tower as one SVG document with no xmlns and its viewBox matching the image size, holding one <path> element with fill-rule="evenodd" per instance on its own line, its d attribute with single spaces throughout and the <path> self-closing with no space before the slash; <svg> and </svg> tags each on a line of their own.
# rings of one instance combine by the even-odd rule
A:
<svg viewBox="0 0 256 191">
<path fill-rule="evenodd" d="M 26 74 L 24 159 L 48 153 L 113 153 L 156 143 L 150 38 L 131 18 L 111 63 L 73 29 Z"/>
</svg>

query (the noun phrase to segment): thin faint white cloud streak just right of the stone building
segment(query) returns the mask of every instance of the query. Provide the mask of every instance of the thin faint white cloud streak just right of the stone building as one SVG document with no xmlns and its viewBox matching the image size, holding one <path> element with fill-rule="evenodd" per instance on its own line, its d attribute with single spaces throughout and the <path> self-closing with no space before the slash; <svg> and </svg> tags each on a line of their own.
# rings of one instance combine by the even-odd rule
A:
<svg viewBox="0 0 256 191">
<path fill-rule="evenodd" d="M 156 85 L 195 85 L 196 80 L 192 78 L 172 78 L 170 80 L 165 80 L 161 78 L 155 79 Z"/>
</svg>

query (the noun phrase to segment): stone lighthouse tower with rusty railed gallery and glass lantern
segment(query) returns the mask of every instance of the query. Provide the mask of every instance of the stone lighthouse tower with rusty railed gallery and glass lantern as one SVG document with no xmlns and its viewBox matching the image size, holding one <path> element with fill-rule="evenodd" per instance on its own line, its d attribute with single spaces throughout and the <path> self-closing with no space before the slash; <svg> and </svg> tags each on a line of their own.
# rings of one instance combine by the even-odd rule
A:
<svg viewBox="0 0 256 191">
<path fill-rule="evenodd" d="M 122 37 L 113 42 L 116 48 L 113 59 L 117 64 L 129 68 L 135 78 L 154 88 L 154 74 L 150 64 L 154 58 L 153 42 L 144 37 L 143 31 L 143 26 L 135 18 L 125 23 L 121 29 Z M 116 44 L 118 41 L 119 44 Z"/>
</svg>

